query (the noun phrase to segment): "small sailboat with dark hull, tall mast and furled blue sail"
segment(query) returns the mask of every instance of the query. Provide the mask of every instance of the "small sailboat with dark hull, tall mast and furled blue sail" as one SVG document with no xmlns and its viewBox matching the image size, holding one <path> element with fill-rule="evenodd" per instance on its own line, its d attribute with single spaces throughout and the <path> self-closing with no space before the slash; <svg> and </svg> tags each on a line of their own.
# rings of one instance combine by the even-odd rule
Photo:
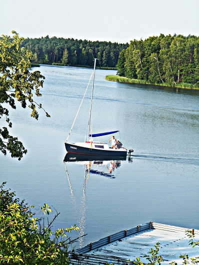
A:
<svg viewBox="0 0 199 265">
<path fill-rule="evenodd" d="M 75 153 L 75 154 L 83 154 L 83 155 L 100 155 L 100 156 L 120 156 L 120 157 L 125 157 L 127 154 L 127 150 L 123 147 L 119 148 L 119 149 L 115 149 L 115 148 L 111 148 L 108 146 L 108 143 L 105 142 L 101 142 L 101 141 L 94 141 L 93 137 L 99 137 L 102 135 L 108 135 L 108 134 L 113 134 L 115 132 L 118 132 L 119 130 L 114 130 L 114 131 L 108 131 L 108 132 L 100 132 L 100 133 L 90 133 L 90 118 L 91 118 L 91 110 L 92 110 L 92 97 L 93 97 L 93 88 L 94 88 L 94 75 L 95 75 L 95 65 L 96 65 L 96 58 L 94 59 L 94 67 L 93 67 L 93 71 L 92 74 L 90 76 L 90 80 L 92 77 L 92 89 L 91 89 L 91 96 L 90 96 L 90 110 L 89 110 L 89 117 L 88 117 L 88 130 L 87 130 L 87 140 L 85 140 L 84 142 L 76 142 L 76 143 L 70 143 L 67 142 L 68 137 L 71 133 L 72 127 L 74 125 L 74 122 L 77 118 L 78 112 L 80 110 L 81 104 L 83 102 L 83 99 L 85 97 L 85 93 L 87 91 L 87 88 L 85 90 L 85 93 L 83 95 L 83 98 L 81 100 L 80 106 L 78 108 L 77 114 L 75 116 L 75 119 L 73 121 L 73 124 L 71 126 L 71 129 L 68 133 L 67 139 L 64 142 L 65 143 L 65 148 L 67 153 Z M 90 137 L 90 138 L 89 138 Z"/>
</svg>

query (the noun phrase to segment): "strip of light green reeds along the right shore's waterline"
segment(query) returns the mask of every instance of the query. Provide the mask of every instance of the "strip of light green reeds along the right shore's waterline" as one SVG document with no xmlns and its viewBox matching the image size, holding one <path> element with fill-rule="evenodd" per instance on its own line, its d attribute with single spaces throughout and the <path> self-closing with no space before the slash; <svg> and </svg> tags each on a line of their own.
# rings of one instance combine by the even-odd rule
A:
<svg viewBox="0 0 199 265">
<path fill-rule="evenodd" d="M 167 83 L 150 83 L 150 82 L 147 82 L 144 80 L 130 79 L 130 78 L 118 76 L 118 75 L 106 75 L 105 79 L 109 80 L 109 81 L 122 82 L 122 83 L 139 83 L 139 84 L 153 84 L 153 85 L 161 85 L 161 86 L 170 86 Z M 199 89 L 198 85 L 190 84 L 190 83 L 178 83 L 178 84 L 174 85 L 174 87 Z"/>
</svg>

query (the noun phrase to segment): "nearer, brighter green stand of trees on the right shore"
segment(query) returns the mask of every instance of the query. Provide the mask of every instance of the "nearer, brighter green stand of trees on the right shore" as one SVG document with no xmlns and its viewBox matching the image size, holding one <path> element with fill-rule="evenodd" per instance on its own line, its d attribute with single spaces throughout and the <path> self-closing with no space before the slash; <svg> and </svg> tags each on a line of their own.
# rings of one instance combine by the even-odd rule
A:
<svg viewBox="0 0 199 265">
<path fill-rule="evenodd" d="M 117 74 L 149 83 L 199 85 L 199 37 L 160 34 L 131 40 L 120 52 Z"/>
</svg>

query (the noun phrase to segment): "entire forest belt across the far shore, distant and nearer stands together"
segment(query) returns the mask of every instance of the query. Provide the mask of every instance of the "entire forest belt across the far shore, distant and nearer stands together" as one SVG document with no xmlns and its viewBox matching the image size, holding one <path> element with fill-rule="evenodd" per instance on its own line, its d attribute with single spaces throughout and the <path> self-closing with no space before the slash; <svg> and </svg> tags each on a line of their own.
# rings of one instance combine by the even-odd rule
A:
<svg viewBox="0 0 199 265">
<path fill-rule="evenodd" d="M 188 35 L 151 36 L 128 43 L 77 40 L 48 35 L 26 38 L 33 63 L 117 67 L 117 74 L 148 83 L 199 86 L 199 37 Z"/>
</svg>

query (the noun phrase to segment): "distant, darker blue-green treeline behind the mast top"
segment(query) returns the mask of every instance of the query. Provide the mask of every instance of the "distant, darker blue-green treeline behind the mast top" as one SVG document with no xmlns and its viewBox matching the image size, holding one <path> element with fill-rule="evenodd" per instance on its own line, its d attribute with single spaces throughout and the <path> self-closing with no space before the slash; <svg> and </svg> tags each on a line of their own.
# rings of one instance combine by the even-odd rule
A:
<svg viewBox="0 0 199 265">
<path fill-rule="evenodd" d="M 32 51 L 33 63 L 91 66 L 93 59 L 98 58 L 100 66 L 115 67 L 120 51 L 127 48 L 129 44 L 57 38 L 47 35 L 41 38 L 26 38 L 23 45 L 28 46 Z"/>
</svg>

